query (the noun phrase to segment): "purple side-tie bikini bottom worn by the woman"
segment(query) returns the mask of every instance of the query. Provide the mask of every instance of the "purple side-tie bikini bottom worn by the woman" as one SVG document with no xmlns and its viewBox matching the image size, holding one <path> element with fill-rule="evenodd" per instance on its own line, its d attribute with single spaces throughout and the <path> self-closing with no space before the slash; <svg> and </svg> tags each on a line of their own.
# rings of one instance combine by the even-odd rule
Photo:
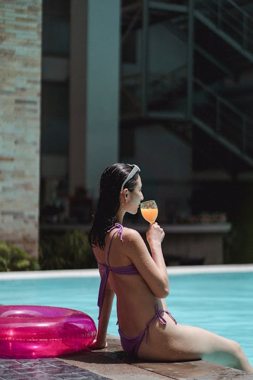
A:
<svg viewBox="0 0 253 380">
<path fill-rule="evenodd" d="M 158 305 L 156 304 L 155 305 L 155 316 L 151 319 L 151 321 L 149 321 L 147 323 L 145 330 L 143 332 L 141 332 L 139 335 L 135 336 L 134 338 L 130 338 L 128 336 L 125 336 L 122 333 L 122 331 L 120 330 L 120 328 L 118 329 L 118 333 L 119 333 L 120 340 L 121 340 L 121 346 L 127 354 L 132 354 L 132 355 L 137 356 L 142 338 L 145 335 L 145 333 L 146 333 L 146 344 L 148 343 L 148 329 L 149 329 L 149 326 L 151 325 L 151 323 L 154 322 L 154 320 L 156 318 L 158 318 L 162 324 L 164 324 L 164 325 L 166 324 L 166 320 L 161 316 L 161 313 L 166 313 L 177 324 L 176 319 L 173 318 L 173 316 L 171 315 L 170 312 L 167 312 L 166 310 L 158 310 Z"/>
</svg>

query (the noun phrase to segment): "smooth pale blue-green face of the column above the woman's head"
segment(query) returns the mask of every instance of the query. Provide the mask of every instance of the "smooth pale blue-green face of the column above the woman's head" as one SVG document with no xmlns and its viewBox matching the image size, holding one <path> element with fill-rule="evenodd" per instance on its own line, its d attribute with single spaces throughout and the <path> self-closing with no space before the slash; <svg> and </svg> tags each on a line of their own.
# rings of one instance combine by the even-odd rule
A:
<svg viewBox="0 0 253 380">
<path fill-rule="evenodd" d="M 118 161 L 120 1 L 89 0 L 87 41 L 86 185 Z"/>
</svg>

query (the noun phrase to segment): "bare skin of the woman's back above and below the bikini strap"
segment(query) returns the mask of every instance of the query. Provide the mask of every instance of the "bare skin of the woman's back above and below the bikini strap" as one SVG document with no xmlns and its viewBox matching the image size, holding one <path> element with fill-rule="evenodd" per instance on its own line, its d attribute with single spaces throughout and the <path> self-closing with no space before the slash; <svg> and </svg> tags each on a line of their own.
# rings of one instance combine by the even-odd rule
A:
<svg viewBox="0 0 253 380">
<path fill-rule="evenodd" d="M 141 236 L 126 227 L 123 228 L 122 241 L 119 234 L 115 234 L 112 238 L 113 234 L 114 231 L 108 233 L 105 249 L 101 250 L 99 247 L 95 247 L 94 253 L 97 261 L 107 267 L 108 265 L 117 268 L 125 267 L 134 263 L 139 271 L 139 274 L 133 276 L 110 272 L 107 285 L 117 296 L 117 316 L 120 328 L 129 336 L 134 336 L 145 328 L 146 322 L 154 314 L 155 305 L 158 304 L 159 308 L 162 308 L 162 302 L 151 291 L 141 275 L 143 268 L 145 271 L 149 271 L 150 259 L 152 259 Z M 136 244 L 136 240 L 139 245 Z M 106 260 L 107 253 L 108 262 Z M 133 255 L 135 256 L 134 261 L 132 260 Z M 151 275 L 149 273 L 149 276 Z M 129 313 L 126 313 L 130 310 L 131 318 L 129 318 Z"/>
</svg>

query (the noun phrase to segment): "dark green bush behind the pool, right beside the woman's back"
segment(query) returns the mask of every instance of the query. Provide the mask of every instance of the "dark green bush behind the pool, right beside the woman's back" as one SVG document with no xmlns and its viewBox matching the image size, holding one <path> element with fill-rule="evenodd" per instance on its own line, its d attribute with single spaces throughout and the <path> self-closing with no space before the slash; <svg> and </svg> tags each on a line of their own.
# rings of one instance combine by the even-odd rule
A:
<svg viewBox="0 0 253 380">
<path fill-rule="evenodd" d="M 39 263 L 43 270 L 97 267 L 88 236 L 83 231 L 44 235 L 39 246 Z"/>
</svg>

